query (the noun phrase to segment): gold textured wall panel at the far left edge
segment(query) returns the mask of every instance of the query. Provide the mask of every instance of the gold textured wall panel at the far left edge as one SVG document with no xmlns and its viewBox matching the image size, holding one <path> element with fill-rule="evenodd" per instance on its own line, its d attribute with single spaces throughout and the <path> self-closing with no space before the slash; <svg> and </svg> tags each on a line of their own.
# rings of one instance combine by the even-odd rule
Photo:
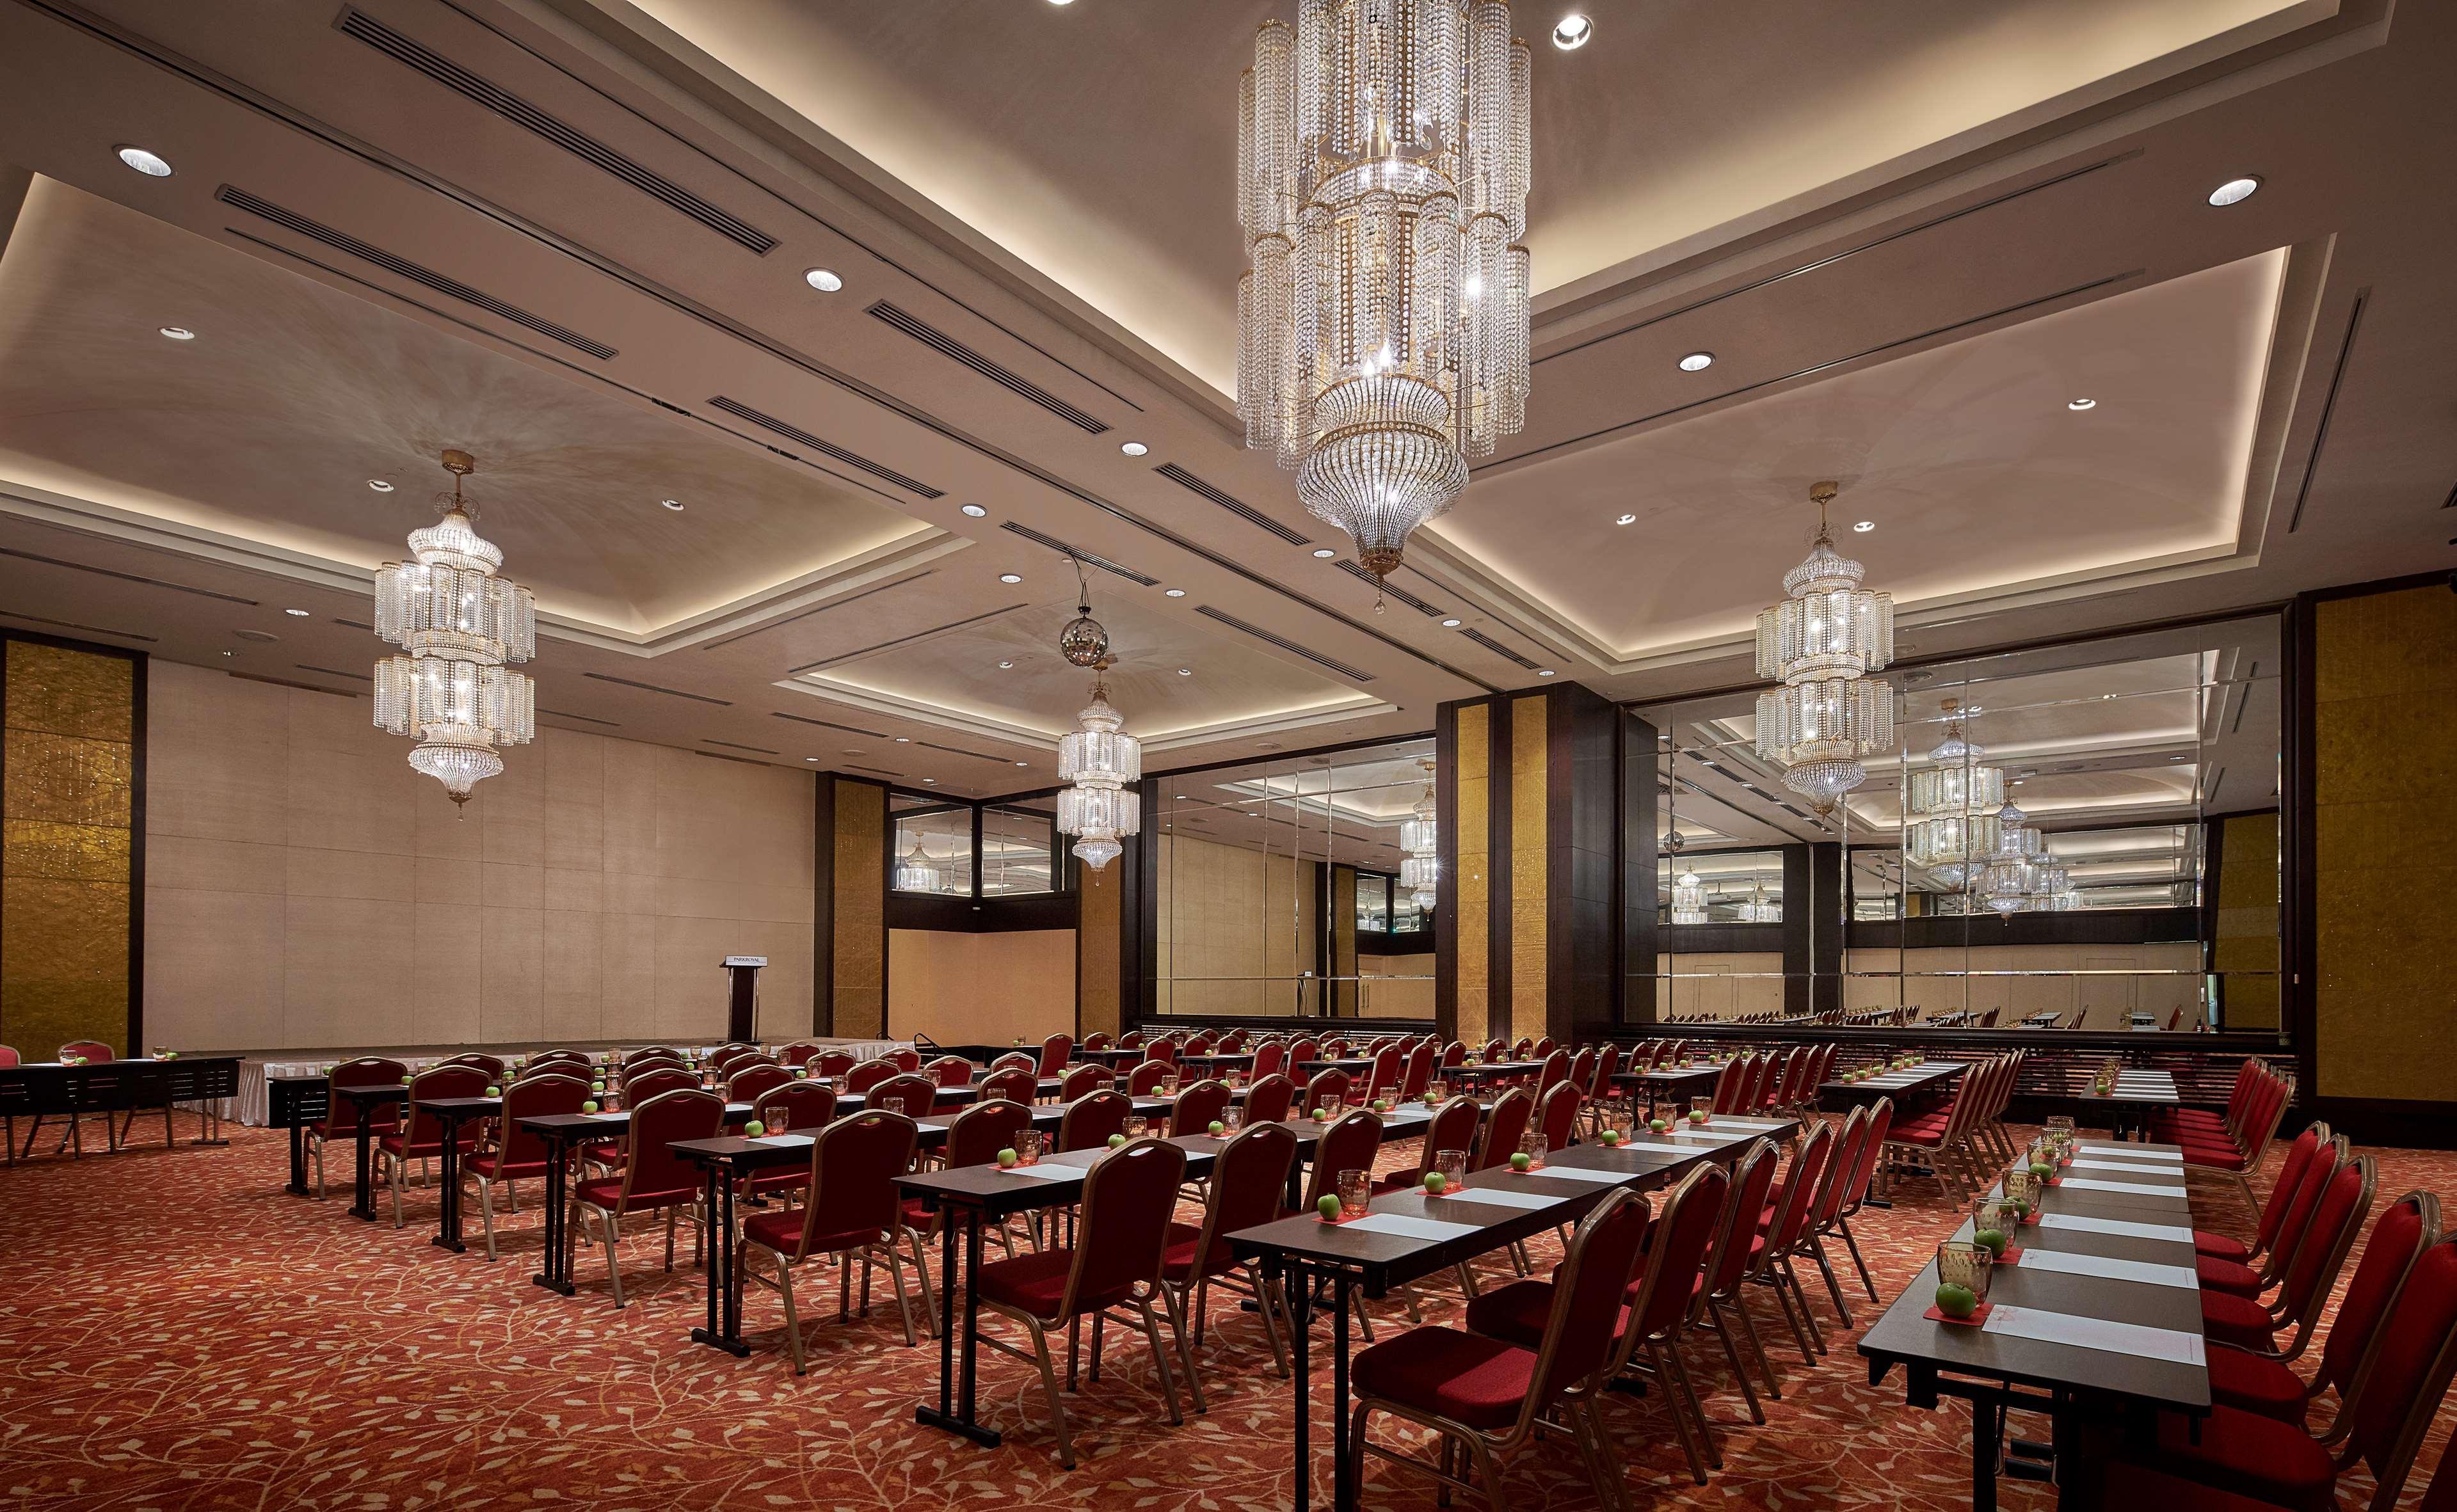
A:
<svg viewBox="0 0 2457 1512">
<path fill-rule="evenodd" d="M 0 1043 L 29 1060 L 84 1038 L 128 1055 L 135 663 L 0 650 Z"/>
</svg>

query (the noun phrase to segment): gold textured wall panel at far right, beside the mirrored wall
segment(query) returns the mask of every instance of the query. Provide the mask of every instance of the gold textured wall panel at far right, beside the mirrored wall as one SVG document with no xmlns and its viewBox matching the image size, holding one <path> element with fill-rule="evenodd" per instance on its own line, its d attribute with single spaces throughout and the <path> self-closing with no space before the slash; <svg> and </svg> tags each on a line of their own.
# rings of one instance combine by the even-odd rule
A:
<svg viewBox="0 0 2457 1512">
<path fill-rule="evenodd" d="M 2447 1102 L 2457 862 L 2432 815 L 2457 783 L 2457 594 L 2329 599 L 2312 633 L 2317 1090 Z"/>
</svg>

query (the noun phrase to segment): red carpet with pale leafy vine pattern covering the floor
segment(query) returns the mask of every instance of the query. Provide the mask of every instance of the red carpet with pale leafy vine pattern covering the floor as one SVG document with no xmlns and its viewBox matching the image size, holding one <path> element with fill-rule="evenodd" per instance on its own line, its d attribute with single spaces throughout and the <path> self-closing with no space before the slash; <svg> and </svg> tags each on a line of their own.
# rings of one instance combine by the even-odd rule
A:
<svg viewBox="0 0 2457 1512">
<path fill-rule="evenodd" d="M 1216 1296 L 1201 1360 L 1209 1416 L 1170 1429 L 1150 1360 L 1113 1335 L 1106 1379 L 1071 1404 L 1081 1468 L 1061 1470 L 1039 1384 L 1005 1357 L 983 1357 L 983 1416 L 1007 1433 L 1005 1448 L 914 1426 L 914 1402 L 936 1384 L 936 1350 L 926 1340 L 904 1348 L 892 1306 L 850 1325 L 833 1311 L 818 1323 L 806 1313 L 811 1375 L 796 1379 L 771 1294 L 747 1301 L 749 1360 L 693 1345 L 700 1276 L 688 1264 L 673 1276 L 656 1271 L 651 1237 L 629 1242 L 636 1289 L 631 1306 L 614 1311 L 602 1262 L 587 1252 L 577 1298 L 528 1284 L 536 1205 L 511 1220 L 504 1259 L 486 1264 L 477 1247 L 450 1257 L 428 1244 L 432 1190 L 413 1190 L 410 1227 L 393 1230 L 349 1220 L 339 1193 L 324 1203 L 285 1195 L 283 1178 L 285 1141 L 258 1129 L 233 1129 L 224 1151 L 152 1149 L 0 1171 L 0 1505 L 1290 1505 L 1287 1387 L 1270 1372 L 1260 1325 L 1238 1316 L 1233 1298 Z M 2418 1186 L 2457 1198 L 2452 1178 L 2457 1156 L 2381 1151 L 2381 1200 Z M 1951 1225 L 1926 1183 L 1899 1195 L 1902 1205 L 1860 1225 L 1889 1301 Z M 2233 1203 L 2214 1208 L 2204 1217 L 2241 1230 Z M 474 1240 L 474 1215 L 469 1227 Z M 1428 1298 L 1432 1321 L 1455 1311 L 1437 1296 Z M 1865 1294 L 1853 1296 L 1867 1323 L 1857 1311 Z M 1774 1308 L 1762 1303 L 1759 1318 L 1774 1321 Z M 1614 1399 L 1607 1416 L 1631 1500 L 1968 1507 L 1968 1411 L 1904 1406 L 1899 1375 L 1870 1387 L 1830 1311 L 1821 1321 L 1835 1350 L 1816 1367 L 1769 1333 L 1784 1399 L 1769 1404 L 1762 1429 L 1730 1389 L 1720 1350 L 1693 1350 L 1725 1451 L 1705 1487 L 1688 1480 L 1656 1399 Z M 1314 1424 L 1327 1433 L 1329 1372 L 1319 1365 L 1314 1382 Z M 2418 1460 L 2408 1505 L 2440 1460 L 2450 1416 L 2442 1411 Z M 2015 1431 L 2044 1436 L 2044 1421 L 2017 1419 Z M 1425 1480 L 1393 1480 L 1381 1465 L 1366 1475 L 1366 1507 L 1432 1507 Z M 1504 1475 L 1514 1510 L 1595 1505 L 1568 1451 L 1521 1453 Z M 1327 1456 L 1317 1458 L 1317 1497 L 1324 1490 Z M 2342 1483 L 2349 1507 L 2364 1492 L 2359 1475 Z M 2049 1507 L 2052 1492 L 2007 1483 L 2005 1505 Z"/>
</svg>

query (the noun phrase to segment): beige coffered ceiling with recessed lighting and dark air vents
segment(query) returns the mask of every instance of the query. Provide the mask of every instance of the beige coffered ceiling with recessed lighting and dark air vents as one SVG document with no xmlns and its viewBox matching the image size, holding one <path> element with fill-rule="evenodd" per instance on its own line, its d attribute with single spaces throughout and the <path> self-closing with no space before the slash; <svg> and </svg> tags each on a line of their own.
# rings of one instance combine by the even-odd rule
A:
<svg viewBox="0 0 2457 1512">
<path fill-rule="evenodd" d="M 1907 655 L 2452 557 L 2450 7 L 1538 37 L 1528 430 L 1381 606 L 1224 393 L 1273 12 L 0 0 L 0 614 L 364 692 L 462 447 L 545 724 L 993 795 L 1084 702 L 1069 550 L 1155 766 L 1744 685 L 1823 476 Z"/>
</svg>

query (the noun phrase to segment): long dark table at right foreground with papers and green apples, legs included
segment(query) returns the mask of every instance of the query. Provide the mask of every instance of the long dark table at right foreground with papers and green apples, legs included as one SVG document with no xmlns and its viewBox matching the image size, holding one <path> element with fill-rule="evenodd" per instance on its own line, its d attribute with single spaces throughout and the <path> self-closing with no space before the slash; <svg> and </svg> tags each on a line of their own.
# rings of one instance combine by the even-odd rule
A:
<svg viewBox="0 0 2457 1512">
<path fill-rule="evenodd" d="M 2007 1409 L 2052 1416 L 2061 1470 L 2071 1470 L 2086 1411 L 2135 1421 L 2160 1409 L 2209 1414 L 2182 1161 L 2172 1144 L 2079 1141 L 2039 1220 L 2010 1230 L 2022 1259 L 1990 1267 L 1985 1323 L 1926 1316 L 1936 1301 L 1931 1259 L 1860 1338 L 1870 1384 L 1902 1365 L 1912 1406 L 1971 1402 L 1973 1512 L 1995 1512 Z M 1968 1240 L 1971 1222 L 1948 1237 Z"/>
</svg>

